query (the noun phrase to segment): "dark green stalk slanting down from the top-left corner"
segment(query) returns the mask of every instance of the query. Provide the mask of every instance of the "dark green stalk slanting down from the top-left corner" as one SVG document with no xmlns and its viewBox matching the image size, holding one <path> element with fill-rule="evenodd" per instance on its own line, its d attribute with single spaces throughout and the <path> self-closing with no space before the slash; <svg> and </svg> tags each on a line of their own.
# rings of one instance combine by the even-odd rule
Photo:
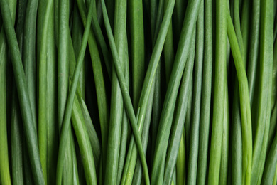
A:
<svg viewBox="0 0 277 185">
<path fill-rule="evenodd" d="M 44 184 L 43 171 L 41 169 L 40 157 L 38 154 L 38 144 L 36 141 L 36 132 L 34 131 L 34 119 L 31 114 L 31 103 L 27 92 L 26 77 L 21 63 L 21 54 L 16 41 L 16 33 L 13 29 L 11 11 L 7 1 L 0 1 L 1 14 L 3 18 L 7 43 L 11 51 L 11 60 L 13 63 L 13 70 L 15 75 L 16 86 L 18 89 L 18 96 L 21 105 L 21 113 L 23 117 L 24 130 L 26 132 L 26 140 L 28 153 L 31 159 L 31 168 L 33 171 L 33 178 L 37 184 Z"/>
</svg>

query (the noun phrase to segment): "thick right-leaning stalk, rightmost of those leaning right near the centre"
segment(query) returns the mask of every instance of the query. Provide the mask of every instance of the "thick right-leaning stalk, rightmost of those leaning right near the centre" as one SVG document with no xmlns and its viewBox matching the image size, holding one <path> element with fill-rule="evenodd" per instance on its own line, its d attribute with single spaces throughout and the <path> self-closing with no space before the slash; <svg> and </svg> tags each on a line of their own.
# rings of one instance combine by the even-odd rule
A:
<svg viewBox="0 0 277 185">
<path fill-rule="evenodd" d="M 183 69 L 185 68 L 185 61 L 188 58 L 188 49 L 191 46 L 193 28 L 196 23 L 200 1 L 190 1 L 188 4 L 188 11 L 186 11 L 183 28 L 180 36 L 180 43 L 178 45 L 173 70 L 170 75 L 168 83 L 168 91 L 165 95 L 163 110 L 161 112 L 161 119 L 158 127 L 155 154 L 152 169 L 152 184 L 163 183 L 163 170 L 165 162 L 165 153 L 168 147 L 168 139 L 170 134 L 170 127 L 173 120 L 173 107 L 177 98 L 178 88 L 180 85 Z M 190 20 L 190 21 L 188 21 Z"/>
</svg>

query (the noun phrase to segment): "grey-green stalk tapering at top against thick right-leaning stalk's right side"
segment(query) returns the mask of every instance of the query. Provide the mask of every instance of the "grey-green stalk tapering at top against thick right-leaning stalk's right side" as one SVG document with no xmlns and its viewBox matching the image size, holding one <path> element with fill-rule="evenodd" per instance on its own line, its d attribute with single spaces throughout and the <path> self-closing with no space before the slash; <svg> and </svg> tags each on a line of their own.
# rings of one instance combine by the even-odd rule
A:
<svg viewBox="0 0 277 185">
<path fill-rule="evenodd" d="M 199 129 L 202 93 L 202 67 L 204 56 L 204 1 L 201 1 L 199 14 L 197 17 L 195 42 L 196 48 L 192 95 L 192 122 L 190 126 L 190 150 L 188 151 L 188 171 L 190 171 L 190 175 L 188 175 L 187 179 L 188 184 L 196 184 L 197 180 L 197 159 L 200 137 Z"/>
</svg>

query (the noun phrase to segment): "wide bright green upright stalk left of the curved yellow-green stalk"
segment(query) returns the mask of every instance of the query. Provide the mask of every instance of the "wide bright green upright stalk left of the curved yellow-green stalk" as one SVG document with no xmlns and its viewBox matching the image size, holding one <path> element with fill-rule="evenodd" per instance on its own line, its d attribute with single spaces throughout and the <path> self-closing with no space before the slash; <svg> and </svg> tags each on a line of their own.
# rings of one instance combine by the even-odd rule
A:
<svg viewBox="0 0 277 185">
<path fill-rule="evenodd" d="M 214 67 L 214 105 L 212 116 L 212 139 L 210 145 L 210 164 L 208 184 L 219 184 L 219 170 L 222 153 L 222 131 L 224 118 L 224 94 L 227 65 L 227 1 L 217 0 L 216 5 L 216 37 Z"/>
</svg>

